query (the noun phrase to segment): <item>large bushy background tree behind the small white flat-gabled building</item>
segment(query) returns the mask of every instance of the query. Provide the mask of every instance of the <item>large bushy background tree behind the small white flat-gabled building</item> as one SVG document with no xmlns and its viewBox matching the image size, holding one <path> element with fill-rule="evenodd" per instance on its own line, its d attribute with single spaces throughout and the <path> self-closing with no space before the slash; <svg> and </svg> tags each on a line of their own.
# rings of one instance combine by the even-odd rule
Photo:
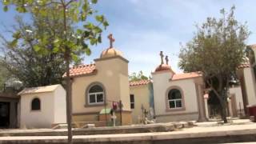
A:
<svg viewBox="0 0 256 144">
<path fill-rule="evenodd" d="M 6 34 L 0 34 L 3 53 L 0 64 L 14 78 L 22 81 L 23 86 L 47 86 L 62 82 L 64 58 L 62 54 L 54 53 L 52 41 L 54 36 L 62 35 L 63 27 L 59 26 L 62 19 L 53 10 L 47 10 L 47 15 L 51 17 L 32 14 L 32 24 L 23 22 L 21 17 L 15 18 L 17 25 L 13 26 L 14 30 L 7 31 L 13 36 L 12 40 L 8 40 Z M 34 34 L 36 36 L 32 38 Z M 44 34 L 47 34 L 47 49 L 42 52 L 37 46 Z"/>
</svg>

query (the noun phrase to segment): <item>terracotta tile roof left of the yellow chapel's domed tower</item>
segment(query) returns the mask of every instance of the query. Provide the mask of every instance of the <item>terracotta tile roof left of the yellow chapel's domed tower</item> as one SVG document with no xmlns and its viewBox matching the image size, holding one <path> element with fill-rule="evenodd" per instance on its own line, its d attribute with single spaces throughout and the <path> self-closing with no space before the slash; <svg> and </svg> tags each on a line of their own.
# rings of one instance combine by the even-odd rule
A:
<svg viewBox="0 0 256 144">
<path fill-rule="evenodd" d="M 95 64 L 80 65 L 70 68 L 70 77 L 76 77 L 84 74 L 92 74 L 96 71 Z M 66 77 L 66 73 L 62 77 Z"/>
</svg>

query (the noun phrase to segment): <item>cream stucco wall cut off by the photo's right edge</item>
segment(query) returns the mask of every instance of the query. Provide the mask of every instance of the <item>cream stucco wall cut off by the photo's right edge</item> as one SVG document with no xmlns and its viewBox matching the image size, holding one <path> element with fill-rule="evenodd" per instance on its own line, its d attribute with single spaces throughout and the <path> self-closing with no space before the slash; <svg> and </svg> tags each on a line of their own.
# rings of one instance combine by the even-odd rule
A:
<svg viewBox="0 0 256 144">
<path fill-rule="evenodd" d="M 244 79 L 246 83 L 246 94 L 248 97 L 248 104 L 256 104 L 256 87 L 255 87 L 255 78 L 254 71 L 252 68 L 244 68 Z"/>
</svg>

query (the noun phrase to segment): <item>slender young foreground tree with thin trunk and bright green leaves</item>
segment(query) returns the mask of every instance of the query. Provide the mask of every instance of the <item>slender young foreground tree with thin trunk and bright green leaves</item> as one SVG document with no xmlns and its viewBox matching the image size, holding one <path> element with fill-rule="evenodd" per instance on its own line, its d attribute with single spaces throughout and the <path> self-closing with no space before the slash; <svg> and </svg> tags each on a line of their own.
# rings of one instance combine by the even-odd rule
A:
<svg viewBox="0 0 256 144">
<path fill-rule="evenodd" d="M 8 10 L 10 5 L 16 7 L 19 13 L 46 14 L 47 7 L 62 17 L 63 31 L 62 36 L 56 36 L 53 39 L 54 53 L 63 54 L 66 62 L 66 112 L 68 123 L 68 142 L 72 143 L 72 107 L 71 107 L 71 86 L 70 86 L 70 62 L 78 58 L 77 52 L 83 50 L 87 54 L 90 53 L 90 45 L 96 45 L 102 42 L 102 27 L 106 28 L 108 22 L 103 15 L 97 15 L 92 9 L 97 0 L 3 0 L 5 5 L 3 10 Z M 48 15 L 47 15 L 48 16 Z M 88 18 L 94 17 L 97 24 Z M 68 23 L 68 19 L 74 22 L 72 25 Z M 80 25 L 80 26 L 79 26 Z M 82 25 L 82 26 L 81 26 Z M 69 33 L 69 26 L 78 26 L 76 30 Z M 69 36 L 73 38 L 70 38 Z M 34 36 L 32 37 L 34 38 Z M 39 38 L 38 45 L 35 49 L 44 52 L 47 49 L 47 34 Z"/>
</svg>

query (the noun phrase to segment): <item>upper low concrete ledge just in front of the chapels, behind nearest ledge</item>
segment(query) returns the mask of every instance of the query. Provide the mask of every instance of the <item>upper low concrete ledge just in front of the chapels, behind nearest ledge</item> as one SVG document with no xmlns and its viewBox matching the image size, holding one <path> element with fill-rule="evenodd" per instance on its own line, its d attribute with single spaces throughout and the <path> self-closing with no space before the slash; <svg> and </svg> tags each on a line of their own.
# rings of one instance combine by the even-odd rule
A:
<svg viewBox="0 0 256 144">
<path fill-rule="evenodd" d="M 86 129 L 74 129 L 74 135 L 94 135 L 94 134 L 136 134 L 150 132 L 167 132 L 183 127 L 192 126 L 190 122 L 182 123 L 162 123 L 135 126 L 116 126 L 116 127 L 95 127 Z M 0 137 L 5 136 L 66 136 L 66 129 L 60 130 L 9 130 L 0 131 Z"/>
</svg>

